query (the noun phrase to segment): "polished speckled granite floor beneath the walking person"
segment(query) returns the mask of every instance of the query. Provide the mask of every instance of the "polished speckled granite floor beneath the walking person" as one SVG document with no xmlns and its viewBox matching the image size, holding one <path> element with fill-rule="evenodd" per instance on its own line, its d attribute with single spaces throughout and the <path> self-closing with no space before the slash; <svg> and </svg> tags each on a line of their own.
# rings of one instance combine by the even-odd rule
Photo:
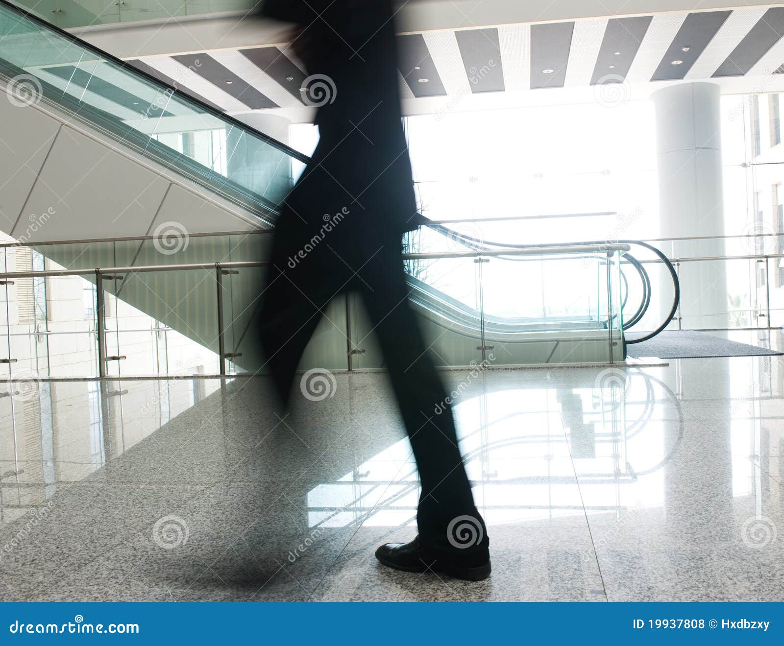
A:
<svg viewBox="0 0 784 646">
<path fill-rule="evenodd" d="M 263 378 L 42 383 L 0 399 L 0 598 L 784 601 L 782 358 L 444 372 L 473 584 L 373 557 L 416 534 L 383 374 L 283 419 Z"/>
</svg>

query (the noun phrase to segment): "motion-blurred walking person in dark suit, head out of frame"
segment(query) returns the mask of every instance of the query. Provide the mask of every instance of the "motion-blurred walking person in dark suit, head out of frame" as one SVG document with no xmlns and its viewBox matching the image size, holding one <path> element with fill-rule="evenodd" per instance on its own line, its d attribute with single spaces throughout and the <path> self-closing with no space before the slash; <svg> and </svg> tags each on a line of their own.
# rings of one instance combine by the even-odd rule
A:
<svg viewBox="0 0 784 646">
<path fill-rule="evenodd" d="M 401 122 L 391 0 L 267 0 L 319 97 L 320 139 L 281 206 L 262 306 L 262 343 L 284 405 L 329 301 L 358 292 L 378 336 L 421 481 L 419 535 L 376 550 L 406 572 L 490 575 L 452 411 L 408 303 L 402 235 L 419 224 Z M 325 98 L 327 100 L 325 100 Z M 325 231 L 325 221 L 334 226 Z M 307 251 L 306 251 L 307 250 Z M 440 410 L 440 414 L 435 412 Z"/>
</svg>

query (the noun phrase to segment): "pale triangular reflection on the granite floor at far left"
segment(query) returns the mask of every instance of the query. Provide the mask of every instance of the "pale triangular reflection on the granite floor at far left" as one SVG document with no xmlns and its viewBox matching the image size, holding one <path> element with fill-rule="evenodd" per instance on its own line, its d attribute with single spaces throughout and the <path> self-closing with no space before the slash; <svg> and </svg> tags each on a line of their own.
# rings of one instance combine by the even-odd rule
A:
<svg viewBox="0 0 784 646">
<path fill-rule="evenodd" d="M 7 385 L 0 397 L 0 524 L 96 473 L 220 388 L 214 379 Z"/>
</svg>

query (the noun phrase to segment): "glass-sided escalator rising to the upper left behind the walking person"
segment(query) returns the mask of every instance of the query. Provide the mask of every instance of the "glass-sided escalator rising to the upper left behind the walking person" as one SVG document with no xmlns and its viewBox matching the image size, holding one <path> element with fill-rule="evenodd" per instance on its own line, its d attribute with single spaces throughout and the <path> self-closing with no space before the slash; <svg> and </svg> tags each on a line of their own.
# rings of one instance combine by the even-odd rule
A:
<svg viewBox="0 0 784 646">
<path fill-rule="evenodd" d="M 182 223 L 190 234 L 272 229 L 277 205 L 308 161 L 307 156 L 201 102 L 187 90 L 175 89 L 6 0 L 0 0 L 0 82 L 9 99 L 0 101 L 0 139 L 11 151 L 0 154 L 0 172 L 11 178 L 0 188 L 0 229 L 38 244 L 47 258 L 64 267 L 86 270 L 172 263 L 172 256 L 156 245 L 132 240 L 150 236 L 172 222 Z M 31 230 L 30 223 L 41 224 L 38 220 L 46 214 L 49 217 L 42 226 Z M 465 279 L 459 281 L 459 289 L 454 285 L 446 289 L 438 281 L 422 280 L 416 271 L 410 272 L 412 303 L 423 318 L 426 334 L 441 339 L 445 346 L 446 365 L 468 365 L 478 356 L 477 350 L 485 357 L 485 350 L 494 347 L 503 347 L 506 354 L 501 361 L 514 365 L 625 358 L 622 332 L 644 319 L 652 297 L 652 281 L 644 264 L 629 251 L 610 259 L 604 252 L 606 241 L 583 243 L 576 249 L 557 243 L 547 246 L 562 245 L 564 251 L 546 258 L 533 245 L 478 241 L 425 218 L 422 226 L 449 241 L 452 251 L 457 245 L 457 251 L 464 252 L 459 258 L 438 260 L 460 265 L 455 275 Z M 121 258 L 116 244 L 105 249 L 86 242 L 45 244 L 118 238 L 129 240 Z M 262 244 L 230 245 L 230 259 L 263 259 L 268 238 L 261 239 Z M 628 247 L 642 245 L 617 242 Z M 210 238 L 190 238 L 190 245 L 187 252 L 183 249 L 177 255 L 179 262 L 220 259 L 227 251 Z M 669 324 L 678 299 L 677 277 L 669 261 L 658 250 L 643 246 L 669 272 L 674 298 L 669 316 L 637 341 Z M 423 249 L 409 251 L 421 254 Z M 482 257 L 477 259 L 477 254 Z M 495 310 L 488 306 L 494 297 L 488 294 L 489 277 L 494 272 L 517 271 L 499 270 L 500 263 L 510 263 L 503 267 L 536 263 L 542 270 L 544 262 L 556 256 L 561 263 L 579 263 L 572 276 L 587 276 L 586 285 L 593 285 L 596 296 L 584 307 L 555 313 L 543 308 L 538 314 L 525 307 L 514 311 L 505 303 Z M 492 265 L 483 267 L 481 263 L 491 257 Z M 640 301 L 633 305 L 626 303 L 629 269 L 641 285 Z M 617 285 L 604 285 L 604 274 L 617 274 Z M 241 369 L 252 371 L 260 367 L 261 355 L 253 346 L 254 335 L 245 332 L 252 328 L 256 310 L 248 304 L 256 297 L 252 285 L 258 284 L 259 275 L 241 272 L 232 281 L 235 292 L 245 295 L 245 302 L 233 303 L 240 314 L 231 321 L 237 331 L 229 350 L 241 355 Z M 474 284 L 468 289 L 470 281 Z M 212 286 L 201 282 L 196 276 L 174 276 L 173 272 L 154 284 L 135 276 L 117 286 L 115 294 L 120 296 L 122 291 L 122 299 L 133 307 L 217 351 L 198 306 L 172 314 L 165 299 L 158 297 L 168 290 L 191 294 L 189 300 L 200 303 L 214 293 Z M 611 295 L 619 303 L 624 301 L 624 311 L 632 312 L 625 321 L 620 307 L 609 307 Z M 503 295 L 495 294 L 495 299 L 503 301 Z M 361 310 L 351 305 L 334 304 L 334 314 L 336 318 L 342 315 L 345 327 L 350 326 L 355 337 L 365 341 L 371 328 Z M 606 339 L 608 332 L 612 339 L 614 329 L 618 332 L 615 348 L 608 353 Z M 314 365 L 342 367 L 346 346 L 341 336 L 323 336 L 325 348 L 312 357 Z M 352 353 L 355 368 L 379 367 L 380 354 L 372 341 L 354 347 Z"/>
</svg>

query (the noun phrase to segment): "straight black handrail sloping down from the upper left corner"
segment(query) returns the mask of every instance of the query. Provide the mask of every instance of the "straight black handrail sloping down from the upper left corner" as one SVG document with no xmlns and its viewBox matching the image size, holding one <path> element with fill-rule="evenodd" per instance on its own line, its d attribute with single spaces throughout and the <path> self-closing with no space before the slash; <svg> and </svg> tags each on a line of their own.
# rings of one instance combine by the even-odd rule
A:
<svg viewBox="0 0 784 646">
<path fill-rule="evenodd" d="M 241 122 L 238 118 L 232 117 L 230 114 L 227 114 L 220 110 L 216 110 L 216 108 L 212 107 L 208 103 L 199 100 L 195 96 L 191 96 L 190 93 L 186 93 L 181 89 L 177 89 L 173 85 L 169 85 L 169 83 L 162 81 L 160 78 L 156 78 L 152 74 L 148 74 L 146 71 L 140 70 L 138 67 L 134 67 L 128 61 L 122 60 L 117 56 L 113 56 L 111 53 L 108 53 L 103 49 L 100 49 L 99 47 L 96 47 L 95 45 L 91 45 L 89 42 L 82 40 L 82 38 L 79 38 L 78 36 L 74 36 L 74 34 L 71 34 L 68 31 L 65 31 L 64 29 L 60 29 L 60 27 L 57 27 L 56 25 L 47 22 L 43 18 L 36 16 L 34 13 L 29 12 L 24 7 L 17 6 L 13 4 L 13 2 L 8 2 L 8 0 L 0 0 L 0 6 L 4 7 L 5 9 L 9 9 L 13 11 L 14 13 L 17 13 L 20 16 L 24 16 L 25 18 L 27 18 L 27 20 L 31 20 L 35 24 L 38 24 L 42 27 L 46 27 L 51 31 L 54 31 L 56 34 L 62 36 L 63 38 L 67 38 L 68 40 L 70 40 L 72 43 L 74 43 L 74 45 L 83 47 L 84 49 L 89 50 L 93 54 L 96 54 L 96 56 L 100 56 L 108 61 L 111 61 L 111 63 L 120 66 L 123 71 L 126 71 L 129 74 L 142 77 L 145 81 L 161 87 L 162 89 L 164 89 L 165 92 L 176 93 L 176 96 L 186 100 L 187 102 L 195 103 L 201 111 L 212 114 L 213 117 L 219 118 L 224 122 L 230 123 L 234 128 L 238 128 L 244 130 L 245 132 L 249 132 L 252 136 L 256 136 L 260 140 L 263 140 L 265 143 L 269 143 L 270 146 L 278 148 L 279 151 L 289 154 L 289 156 L 295 158 L 297 161 L 301 161 L 303 162 L 303 164 L 307 164 L 307 162 L 310 161 L 310 157 L 308 157 L 307 154 L 303 154 L 295 150 L 294 148 L 287 146 L 285 143 L 282 143 L 274 139 L 274 137 L 271 137 L 269 135 L 264 134 L 263 132 L 260 132 L 259 130 L 253 128 L 252 126 Z"/>
</svg>

